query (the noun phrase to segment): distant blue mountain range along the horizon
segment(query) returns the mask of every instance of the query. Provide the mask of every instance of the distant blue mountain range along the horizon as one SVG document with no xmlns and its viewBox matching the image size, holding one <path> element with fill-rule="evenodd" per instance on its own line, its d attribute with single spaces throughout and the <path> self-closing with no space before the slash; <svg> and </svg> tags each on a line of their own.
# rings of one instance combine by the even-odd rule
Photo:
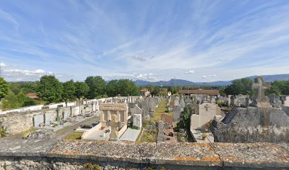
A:
<svg viewBox="0 0 289 170">
<path fill-rule="evenodd" d="M 251 77 L 245 77 L 248 79 L 255 79 L 258 76 L 251 76 Z M 279 81 L 285 81 L 289 80 L 289 74 L 275 74 L 275 75 L 264 75 L 261 76 L 264 78 L 266 82 L 272 82 L 275 80 Z M 187 81 L 183 79 L 171 79 L 169 81 L 157 81 L 157 82 L 151 82 L 151 81 L 144 81 L 144 80 L 136 80 L 135 84 L 137 86 L 228 86 L 232 84 L 231 81 L 212 81 L 212 82 L 192 82 Z"/>
</svg>

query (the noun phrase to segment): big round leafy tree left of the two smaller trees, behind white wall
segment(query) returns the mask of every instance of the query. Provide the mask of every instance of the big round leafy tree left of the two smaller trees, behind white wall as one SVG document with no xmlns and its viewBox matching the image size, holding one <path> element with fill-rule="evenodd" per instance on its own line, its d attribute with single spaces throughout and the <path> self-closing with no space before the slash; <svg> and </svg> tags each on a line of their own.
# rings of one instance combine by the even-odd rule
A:
<svg viewBox="0 0 289 170">
<path fill-rule="evenodd" d="M 48 101 L 49 103 L 62 101 L 63 86 L 55 76 L 42 76 L 38 83 L 37 91 L 38 96 L 43 101 Z"/>
</svg>

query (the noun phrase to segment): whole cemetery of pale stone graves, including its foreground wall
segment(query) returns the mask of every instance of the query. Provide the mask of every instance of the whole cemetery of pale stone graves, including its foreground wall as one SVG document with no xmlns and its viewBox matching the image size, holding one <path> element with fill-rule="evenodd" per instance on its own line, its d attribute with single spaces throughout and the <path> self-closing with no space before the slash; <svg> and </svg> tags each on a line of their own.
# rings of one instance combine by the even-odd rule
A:
<svg viewBox="0 0 289 170">
<path fill-rule="evenodd" d="M 256 79 L 252 97 L 181 91 L 167 98 L 101 98 L 1 114 L 9 134 L 30 132 L 17 140 L 1 139 L 0 168 L 23 162 L 41 168 L 53 159 L 76 169 L 84 163 L 119 169 L 283 169 L 289 166 L 284 161 L 289 155 L 288 98 L 265 96 L 266 86 Z M 35 147 L 29 146 L 32 142 Z"/>
</svg>

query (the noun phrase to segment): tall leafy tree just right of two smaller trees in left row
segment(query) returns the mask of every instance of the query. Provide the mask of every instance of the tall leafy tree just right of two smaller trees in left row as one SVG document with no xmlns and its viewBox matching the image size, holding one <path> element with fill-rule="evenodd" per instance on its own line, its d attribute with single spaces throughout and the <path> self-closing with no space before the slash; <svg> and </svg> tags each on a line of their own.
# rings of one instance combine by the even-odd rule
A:
<svg viewBox="0 0 289 170">
<path fill-rule="evenodd" d="M 88 98 L 100 98 L 105 95 L 106 81 L 102 77 L 86 77 L 85 82 L 89 85 Z"/>
</svg>

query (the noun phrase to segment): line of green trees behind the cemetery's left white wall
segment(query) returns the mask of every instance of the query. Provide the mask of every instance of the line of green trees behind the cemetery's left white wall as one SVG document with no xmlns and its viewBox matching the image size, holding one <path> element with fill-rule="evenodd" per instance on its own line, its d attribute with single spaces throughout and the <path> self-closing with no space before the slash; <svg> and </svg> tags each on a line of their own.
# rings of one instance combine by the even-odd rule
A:
<svg viewBox="0 0 289 170">
<path fill-rule="evenodd" d="M 55 76 L 45 75 L 35 82 L 8 83 L 0 77 L 0 99 L 3 109 L 33 106 L 40 103 L 57 103 L 81 98 L 104 98 L 113 96 L 139 96 L 140 89 L 130 79 L 106 82 L 102 77 L 86 77 L 84 82 L 69 80 L 60 82 Z M 41 101 L 26 96 L 35 93 Z"/>
</svg>

